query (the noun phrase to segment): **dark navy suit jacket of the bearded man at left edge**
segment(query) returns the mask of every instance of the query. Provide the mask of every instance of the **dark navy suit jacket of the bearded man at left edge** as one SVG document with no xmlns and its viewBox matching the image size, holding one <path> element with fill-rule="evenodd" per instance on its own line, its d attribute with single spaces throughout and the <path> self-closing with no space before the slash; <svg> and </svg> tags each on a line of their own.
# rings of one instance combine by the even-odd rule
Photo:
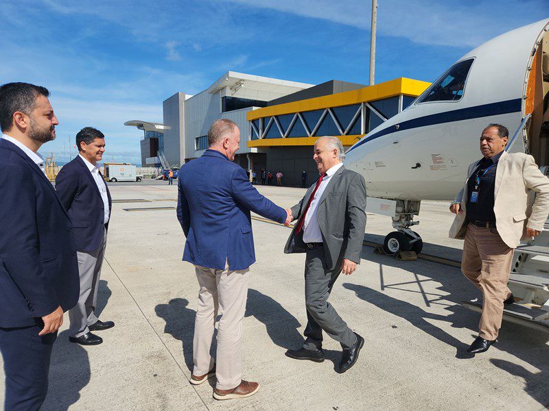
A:
<svg viewBox="0 0 549 411">
<path fill-rule="evenodd" d="M 3 139 L 0 192 L 0 327 L 27 327 L 78 301 L 73 229 L 44 173 Z"/>
</svg>

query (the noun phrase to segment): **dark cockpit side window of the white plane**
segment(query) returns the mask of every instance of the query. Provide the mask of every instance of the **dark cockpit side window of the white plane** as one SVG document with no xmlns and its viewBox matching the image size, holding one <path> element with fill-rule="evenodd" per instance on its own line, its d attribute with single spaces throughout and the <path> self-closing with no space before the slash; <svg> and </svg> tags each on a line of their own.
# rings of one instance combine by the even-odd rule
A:
<svg viewBox="0 0 549 411">
<path fill-rule="evenodd" d="M 417 99 L 417 104 L 428 101 L 457 101 L 463 97 L 465 80 L 474 59 L 463 60 L 450 67 L 430 88 Z"/>
</svg>

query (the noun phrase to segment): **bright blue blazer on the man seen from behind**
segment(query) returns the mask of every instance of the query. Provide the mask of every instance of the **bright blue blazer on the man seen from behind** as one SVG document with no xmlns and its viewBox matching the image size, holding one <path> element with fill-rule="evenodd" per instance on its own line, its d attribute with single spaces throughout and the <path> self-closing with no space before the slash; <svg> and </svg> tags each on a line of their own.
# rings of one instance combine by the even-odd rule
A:
<svg viewBox="0 0 549 411">
<path fill-rule="evenodd" d="M 283 223 L 286 212 L 259 194 L 241 166 L 206 150 L 179 170 L 177 217 L 187 237 L 183 260 L 244 270 L 255 262 L 250 210 Z"/>
</svg>

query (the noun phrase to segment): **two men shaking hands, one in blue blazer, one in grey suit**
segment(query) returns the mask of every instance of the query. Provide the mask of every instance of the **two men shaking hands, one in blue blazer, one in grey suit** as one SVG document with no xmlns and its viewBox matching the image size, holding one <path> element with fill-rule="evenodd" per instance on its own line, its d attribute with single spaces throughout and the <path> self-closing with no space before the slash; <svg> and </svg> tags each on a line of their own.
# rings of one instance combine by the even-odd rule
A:
<svg viewBox="0 0 549 411">
<path fill-rule="evenodd" d="M 347 371 L 358 359 L 364 338 L 347 326 L 327 299 L 340 273 L 351 274 L 360 263 L 366 226 L 364 178 L 343 166 L 338 138 L 319 138 L 313 153 L 318 180 L 299 203 L 284 210 L 257 192 L 244 169 L 233 162 L 240 148 L 240 130 L 233 121 L 215 121 L 208 143 L 200 158 L 181 167 L 178 182 L 177 214 L 187 237 L 183 260 L 194 264 L 200 284 L 191 384 L 202 384 L 215 373 L 213 397 L 220 400 L 249 397 L 259 389 L 257 382 L 242 379 L 238 343 L 248 274 L 255 262 L 250 212 L 287 226 L 296 221 L 284 253 L 306 256 L 305 341 L 286 356 L 322 362 L 325 331 L 342 346 L 338 372 Z M 223 332 L 218 333 L 214 358 L 211 319 L 218 312 Z"/>
</svg>

